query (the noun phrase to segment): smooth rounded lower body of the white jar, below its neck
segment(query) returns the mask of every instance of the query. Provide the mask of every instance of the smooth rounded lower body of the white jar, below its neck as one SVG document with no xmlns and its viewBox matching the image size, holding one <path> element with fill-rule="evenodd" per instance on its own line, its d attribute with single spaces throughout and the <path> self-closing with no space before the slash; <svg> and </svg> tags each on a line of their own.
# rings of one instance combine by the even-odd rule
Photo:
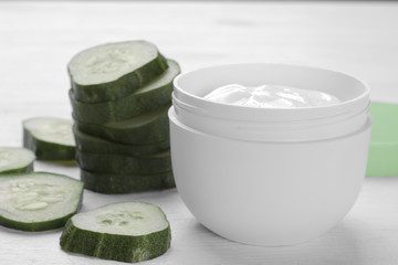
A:
<svg viewBox="0 0 398 265">
<path fill-rule="evenodd" d="M 264 246 L 305 242 L 336 225 L 358 197 L 370 121 L 328 140 L 250 142 L 193 130 L 169 112 L 178 192 L 223 237 Z"/>
</svg>

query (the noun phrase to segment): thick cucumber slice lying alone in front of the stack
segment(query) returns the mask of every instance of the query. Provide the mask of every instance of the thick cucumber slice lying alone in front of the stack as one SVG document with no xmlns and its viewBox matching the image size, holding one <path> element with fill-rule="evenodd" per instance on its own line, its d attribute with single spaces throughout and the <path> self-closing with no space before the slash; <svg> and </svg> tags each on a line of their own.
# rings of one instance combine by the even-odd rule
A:
<svg viewBox="0 0 398 265">
<path fill-rule="evenodd" d="M 159 206 L 119 202 L 74 215 L 60 244 L 67 252 L 134 263 L 163 255 L 170 241 L 170 224 Z"/>
</svg>

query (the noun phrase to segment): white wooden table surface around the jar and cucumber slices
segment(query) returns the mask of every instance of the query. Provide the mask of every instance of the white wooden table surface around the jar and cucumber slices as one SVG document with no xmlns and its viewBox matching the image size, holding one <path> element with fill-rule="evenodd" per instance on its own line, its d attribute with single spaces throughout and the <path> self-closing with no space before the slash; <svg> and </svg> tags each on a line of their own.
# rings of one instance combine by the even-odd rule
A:
<svg viewBox="0 0 398 265">
<path fill-rule="evenodd" d="M 21 146 L 21 120 L 71 117 L 67 61 L 82 49 L 145 39 L 184 71 L 231 62 L 289 62 L 352 73 L 371 98 L 398 103 L 395 2 L 0 2 L 0 146 Z M 78 169 L 36 162 L 78 178 Z M 336 194 L 338 195 L 338 194 Z M 82 211 L 144 200 L 159 204 L 171 248 L 144 264 L 398 264 L 398 177 L 367 178 L 329 233 L 291 247 L 255 247 L 201 226 L 178 192 L 84 192 Z M 61 251 L 61 231 L 0 229 L 0 264 L 119 264 Z"/>
</svg>

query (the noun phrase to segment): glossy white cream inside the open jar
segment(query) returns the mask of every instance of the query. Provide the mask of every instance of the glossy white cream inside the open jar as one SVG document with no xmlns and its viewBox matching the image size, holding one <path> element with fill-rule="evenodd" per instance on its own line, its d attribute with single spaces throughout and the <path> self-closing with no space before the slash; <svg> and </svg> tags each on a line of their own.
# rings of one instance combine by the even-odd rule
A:
<svg viewBox="0 0 398 265">
<path fill-rule="evenodd" d="M 327 93 L 281 85 L 218 87 L 205 96 L 211 102 L 264 108 L 300 108 L 327 106 L 341 100 Z"/>
</svg>

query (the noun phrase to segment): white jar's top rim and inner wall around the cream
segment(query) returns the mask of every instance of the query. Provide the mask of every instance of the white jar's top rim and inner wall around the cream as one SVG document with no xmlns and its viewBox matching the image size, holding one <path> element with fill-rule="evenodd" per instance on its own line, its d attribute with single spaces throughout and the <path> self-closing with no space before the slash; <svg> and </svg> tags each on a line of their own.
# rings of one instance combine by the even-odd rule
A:
<svg viewBox="0 0 398 265">
<path fill-rule="evenodd" d="M 226 82 L 226 78 L 229 82 Z M 307 86 L 307 89 L 335 95 L 342 103 L 300 108 L 259 108 L 203 98 L 211 89 L 232 83 L 289 85 L 304 89 Z M 218 118 L 252 121 L 297 121 L 345 116 L 349 113 L 355 115 L 368 107 L 369 94 L 369 86 L 353 75 L 297 64 L 221 64 L 182 73 L 174 81 L 174 98 L 184 105 L 182 108 Z"/>
</svg>

